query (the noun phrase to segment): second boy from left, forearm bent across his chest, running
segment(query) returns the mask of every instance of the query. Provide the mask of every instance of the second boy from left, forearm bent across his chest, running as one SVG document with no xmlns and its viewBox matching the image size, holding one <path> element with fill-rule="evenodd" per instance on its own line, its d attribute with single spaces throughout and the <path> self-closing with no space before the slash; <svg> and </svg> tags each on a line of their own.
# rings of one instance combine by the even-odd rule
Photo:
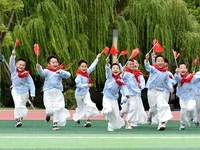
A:
<svg viewBox="0 0 200 150">
<path fill-rule="evenodd" d="M 63 65 L 59 66 L 56 56 L 48 56 L 47 63 L 46 69 L 42 69 L 39 64 L 36 65 L 38 74 L 45 77 L 43 86 L 43 102 L 46 108 L 45 121 L 49 122 L 50 117 L 53 116 L 52 130 L 59 130 L 58 126 L 65 126 L 66 118 L 70 116 L 69 111 L 65 108 L 62 79 L 69 78 L 71 74 L 62 69 Z"/>
</svg>

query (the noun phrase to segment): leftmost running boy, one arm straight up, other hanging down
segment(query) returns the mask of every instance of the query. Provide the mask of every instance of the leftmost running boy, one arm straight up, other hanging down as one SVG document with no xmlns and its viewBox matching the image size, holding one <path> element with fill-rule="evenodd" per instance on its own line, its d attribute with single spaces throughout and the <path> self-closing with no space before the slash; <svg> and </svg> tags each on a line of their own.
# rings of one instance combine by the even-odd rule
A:
<svg viewBox="0 0 200 150">
<path fill-rule="evenodd" d="M 12 51 L 10 57 L 10 71 L 12 80 L 12 97 L 15 104 L 14 117 L 16 119 L 15 127 L 22 126 L 22 119 L 27 115 L 28 109 L 26 103 L 29 99 L 29 90 L 32 100 L 35 97 L 35 85 L 29 71 L 25 70 L 26 61 L 18 59 L 15 64 L 16 52 Z"/>
</svg>

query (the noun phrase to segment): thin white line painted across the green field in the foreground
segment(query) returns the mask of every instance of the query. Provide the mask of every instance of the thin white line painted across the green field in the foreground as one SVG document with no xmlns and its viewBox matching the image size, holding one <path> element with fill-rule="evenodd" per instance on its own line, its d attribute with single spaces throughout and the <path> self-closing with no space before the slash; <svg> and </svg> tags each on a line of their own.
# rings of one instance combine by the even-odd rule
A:
<svg viewBox="0 0 200 150">
<path fill-rule="evenodd" d="M 200 139 L 200 136 L 187 136 L 187 137 L 107 137 L 107 136 L 98 136 L 98 137 L 85 137 L 85 136 L 0 136 L 0 139 Z"/>
</svg>

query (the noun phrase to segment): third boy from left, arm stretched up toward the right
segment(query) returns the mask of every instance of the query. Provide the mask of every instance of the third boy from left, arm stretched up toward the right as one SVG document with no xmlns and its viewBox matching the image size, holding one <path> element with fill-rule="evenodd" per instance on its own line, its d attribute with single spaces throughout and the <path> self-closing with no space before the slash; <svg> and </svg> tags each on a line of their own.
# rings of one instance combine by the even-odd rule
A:
<svg viewBox="0 0 200 150">
<path fill-rule="evenodd" d="M 78 70 L 76 72 L 76 91 L 75 98 L 77 103 L 77 108 L 73 114 L 73 120 L 80 124 L 80 119 L 86 115 L 86 121 L 84 127 L 90 127 L 90 119 L 96 115 L 99 115 L 99 111 L 96 104 L 92 102 L 90 97 L 89 89 L 93 86 L 93 81 L 89 75 L 94 71 L 101 54 L 98 54 L 94 62 L 87 67 L 87 62 L 85 60 L 80 60 L 78 62 Z"/>
</svg>

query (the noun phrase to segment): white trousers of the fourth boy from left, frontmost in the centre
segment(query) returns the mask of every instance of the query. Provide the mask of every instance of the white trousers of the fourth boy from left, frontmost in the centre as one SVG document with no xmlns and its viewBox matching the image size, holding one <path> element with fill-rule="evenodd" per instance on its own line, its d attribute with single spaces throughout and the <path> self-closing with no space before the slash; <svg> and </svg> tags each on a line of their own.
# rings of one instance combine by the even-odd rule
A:
<svg viewBox="0 0 200 150">
<path fill-rule="evenodd" d="M 124 119 L 119 115 L 119 105 L 117 100 L 111 100 L 103 96 L 103 109 L 101 114 L 108 120 L 108 128 L 120 129 L 125 125 Z"/>
</svg>

